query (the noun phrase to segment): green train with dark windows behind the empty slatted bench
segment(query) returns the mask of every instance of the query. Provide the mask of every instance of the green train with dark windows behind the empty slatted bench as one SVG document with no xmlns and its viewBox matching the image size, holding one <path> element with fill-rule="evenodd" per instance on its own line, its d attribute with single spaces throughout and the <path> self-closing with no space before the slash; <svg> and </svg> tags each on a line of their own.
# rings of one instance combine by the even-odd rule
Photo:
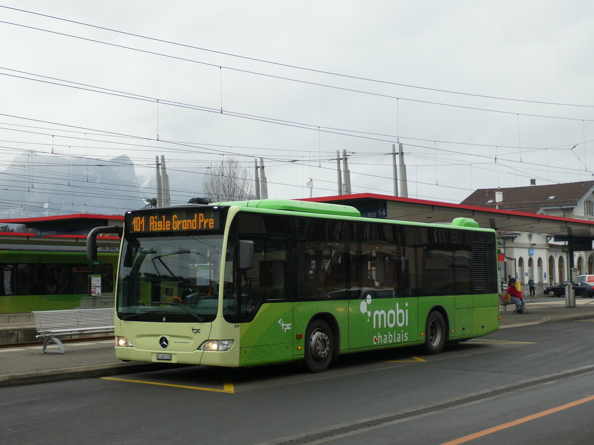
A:
<svg viewBox="0 0 594 445">
<path fill-rule="evenodd" d="M 114 252 L 115 250 L 115 252 Z M 102 295 L 114 295 L 118 249 L 102 247 L 89 265 L 84 246 L 23 240 L 0 248 L 0 314 L 78 307 L 89 295 L 89 276 L 101 275 Z"/>
</svg>

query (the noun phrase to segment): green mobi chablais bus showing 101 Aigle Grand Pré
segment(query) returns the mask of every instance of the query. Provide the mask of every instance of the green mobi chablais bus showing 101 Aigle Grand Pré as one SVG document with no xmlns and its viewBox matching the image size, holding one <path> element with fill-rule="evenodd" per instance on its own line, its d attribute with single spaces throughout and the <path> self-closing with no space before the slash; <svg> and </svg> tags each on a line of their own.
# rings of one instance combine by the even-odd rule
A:
<svg viewBox="0 0 594 445">
<path fill-rule="evenodd" d="M 87 238 L 121 227 L 98 227 Z M 116 355 L 243 367 L 424 345 L 499 327 L 495 232 L 280 199 L 125 214 Z"/>
</svg>

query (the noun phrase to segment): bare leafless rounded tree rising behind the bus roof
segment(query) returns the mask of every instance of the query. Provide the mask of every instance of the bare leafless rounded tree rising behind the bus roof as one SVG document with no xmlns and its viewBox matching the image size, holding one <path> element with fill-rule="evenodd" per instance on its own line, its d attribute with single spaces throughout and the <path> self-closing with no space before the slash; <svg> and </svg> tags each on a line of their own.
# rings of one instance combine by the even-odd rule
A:
<svg viewBox="0 0 594 445">
<path fill-rule="evenodd" d="M 214 202 L 254 199 L 254 181 L 248 169 L 235 158 L 225 158 L 220 164 L 210 164 L 202 183 L 204 194 Z"/>
</svg>

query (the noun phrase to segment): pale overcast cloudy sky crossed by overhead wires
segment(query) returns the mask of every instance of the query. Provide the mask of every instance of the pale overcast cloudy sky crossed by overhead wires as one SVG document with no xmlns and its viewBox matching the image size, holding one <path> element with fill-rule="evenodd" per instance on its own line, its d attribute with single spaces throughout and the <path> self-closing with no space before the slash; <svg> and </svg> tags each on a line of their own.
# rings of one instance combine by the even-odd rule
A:
<svg viewBox="0 0 594 445">
<path fill-rule="evenodd" d="M 181 203 L 262 157 L 270 198 L 301 198 L 336 194 L 346 150 L 353 193 L 391 194 L 400 142 L 411 198 L 593 179 L 591 1 L 0 6 L 0 171 L 127 154 L 150 197 L 164 155 Z"/>
</svg>

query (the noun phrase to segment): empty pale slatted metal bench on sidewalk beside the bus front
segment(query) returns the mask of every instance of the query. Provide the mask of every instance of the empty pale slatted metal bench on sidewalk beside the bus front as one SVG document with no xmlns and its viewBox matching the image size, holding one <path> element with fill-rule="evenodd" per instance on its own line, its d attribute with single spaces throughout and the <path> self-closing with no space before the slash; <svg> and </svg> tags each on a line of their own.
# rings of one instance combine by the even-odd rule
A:
<svg viewBox="0 0 594 445">
<path fill-rule="evenodd" d="M 37 338 L 45 338 L 43 353 L 64 354 L 64 344 L 58 336 L 113 332 L 113 307 L 33 311 Z M 55 343 L 59 351 L 46 351 Z"/>
</svg>

